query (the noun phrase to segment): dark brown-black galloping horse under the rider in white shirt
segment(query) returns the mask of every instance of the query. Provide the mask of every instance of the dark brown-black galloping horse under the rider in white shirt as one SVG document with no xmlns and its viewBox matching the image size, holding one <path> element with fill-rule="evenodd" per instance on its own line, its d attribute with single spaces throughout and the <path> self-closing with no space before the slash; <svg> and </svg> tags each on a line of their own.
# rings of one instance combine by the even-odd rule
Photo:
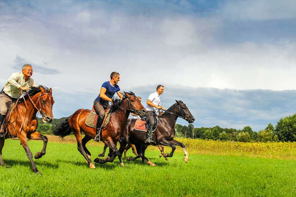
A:
<svg viewBox="0 0 296 197">
<path fill-rule="evenodd" d="M 154 145 L 170 146 L 172 148 L 170 154 L 166 153 L 163 155 L 165 158 L 173 157 L 176 145 L 181 146 L 185 154 L 184 160 L 187 163 L 188 153 L 184 144 L 174 139 L 176 133 L 175 124 L 178 117 L 185 119 L 188 123 L 193 123 L 195 120 L 184 102 L 181 100 L 176 100 L 175 104 L 166 110 L 163 115 L 158 117 L 158 126 L 153 132 L 154 141 L 156 142 Z M 124 131 L 122 131 L 122 137 L 124 137 L 125 140 L 120 142 L 119 150 L 121 150 L 121 146 L 126 147 L 127 142 L 131 142 L 135 144 L 138 153 L 138 156 L 131 160 L 134 161 L 142 157 L 143 162 L 147 161 L 148 164 L 154 166 L 155 164 L 150 162 L 145 157 L 145 150 L 147 148 L 147 145 L 144 143 L 146 139 L 146 132 L 135 130 L 135 123 L 136 119 L 129 119 L 127 121 L 126 128 Z"/>
</svg>

